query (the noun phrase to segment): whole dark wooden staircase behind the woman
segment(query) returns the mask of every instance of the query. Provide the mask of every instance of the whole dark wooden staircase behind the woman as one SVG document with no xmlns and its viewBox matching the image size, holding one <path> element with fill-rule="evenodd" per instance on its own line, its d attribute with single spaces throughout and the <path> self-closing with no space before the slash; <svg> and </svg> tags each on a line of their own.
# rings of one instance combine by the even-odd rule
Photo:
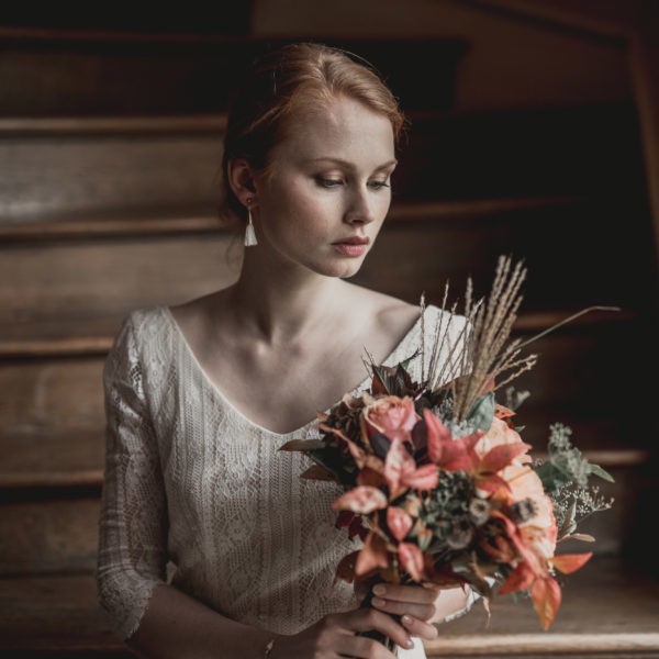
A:
<svg viewBox="0 0 659 659">
<path fill-rule="evenodd" d="M 235 63 L 273 42 L 169 25 L 8 25 L 0 41 L 0 652 L 129 657 L 92 579 L 102 365 L 131 309 L 235 278 L 215 209 L 225 110 Z M 614 509 L 589 528 L 596 557 L 569 579 L 550 633 L 502 597 L 489 628 L 474 612 L 429 655 L 659 657 L 657 428 L 639 384 L 657 357 L 657 273 L 634 108 L 456 115 L 467 44 L 327 41 L 391 71 L 411 119 L 390 219 L 356 282 L 440 303 L 447 279 L 456 295 L 469 275 L 484 287 L 510 253 L 529 269 L 520 335 L 622 308 L 539 339 L 520 382 L 533 392 L 526 440 L 539 451 L 548 424 L 567 423 L 616 477 Z M 420 58 L 433 94 L 405 75 Z"/>
</svg>

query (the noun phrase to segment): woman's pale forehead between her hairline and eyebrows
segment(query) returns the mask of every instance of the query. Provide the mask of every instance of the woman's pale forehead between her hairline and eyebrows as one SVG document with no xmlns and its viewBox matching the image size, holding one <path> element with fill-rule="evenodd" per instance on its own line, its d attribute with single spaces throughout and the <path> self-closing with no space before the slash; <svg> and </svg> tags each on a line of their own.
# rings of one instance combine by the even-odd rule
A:
<svg viewBox="0 0 659 659">
<path fill-rule="evenodd" d="M 347 160 L 355 166 L 379 167 L 393 159 L 394 138 L 389 119 L 347 97 L 291 118 L 275 148 L 275 159 L 319 158 Z"/>
</svg>

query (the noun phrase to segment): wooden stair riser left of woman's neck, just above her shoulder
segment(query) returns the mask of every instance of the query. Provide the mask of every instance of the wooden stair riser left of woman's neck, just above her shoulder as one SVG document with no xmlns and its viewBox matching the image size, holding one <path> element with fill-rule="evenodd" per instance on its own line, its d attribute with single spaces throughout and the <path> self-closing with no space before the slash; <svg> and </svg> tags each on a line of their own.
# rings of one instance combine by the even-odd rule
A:
<svg viewBox="0 0 659 659">
<path fill-rule="evenodd" d="M 0 336 L 26 338 L 27 328 L 42 323 L 40 338 L 89 336 L 76 319 L 116 320 L 135 306 L 223 288 L 237 276 L 227 263 L 230 246 L 225 236 L 194 236 L 7 249 L 0 258 Z"/>
</svg>

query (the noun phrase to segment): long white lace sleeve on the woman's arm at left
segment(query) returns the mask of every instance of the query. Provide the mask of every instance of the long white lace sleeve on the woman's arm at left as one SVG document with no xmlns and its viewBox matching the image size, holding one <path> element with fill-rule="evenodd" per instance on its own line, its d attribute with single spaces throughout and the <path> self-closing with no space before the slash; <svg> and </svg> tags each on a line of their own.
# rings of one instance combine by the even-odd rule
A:
<svg viewBox="0 0 659 659">
<path fill-rule="evenodd" d="M 103 390 L 107 445 L 97 587 L 110 628 L 125 640 L 154 588 L 165 582 L 167 563 L 165 488 L 131 315 L 105 360 Z"/>
</svg>

